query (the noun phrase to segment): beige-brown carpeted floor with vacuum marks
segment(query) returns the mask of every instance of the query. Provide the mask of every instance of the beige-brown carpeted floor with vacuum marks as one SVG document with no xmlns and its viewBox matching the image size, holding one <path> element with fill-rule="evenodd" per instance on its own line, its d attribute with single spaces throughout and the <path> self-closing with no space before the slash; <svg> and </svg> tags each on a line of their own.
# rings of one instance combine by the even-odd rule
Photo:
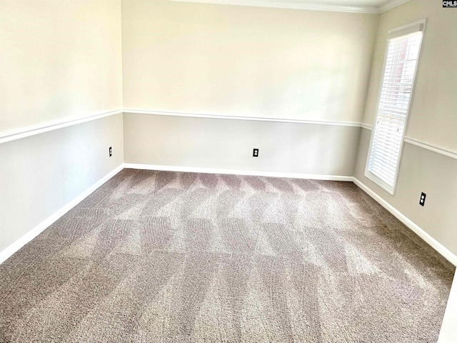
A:
<svg viewBox="0 0 457 343">
<path fill-rule="evenodd" d="M 0 265 L 0 342 L 436 342 L 453 271 L 352 183 L 124 169 Z"/>
</svg>

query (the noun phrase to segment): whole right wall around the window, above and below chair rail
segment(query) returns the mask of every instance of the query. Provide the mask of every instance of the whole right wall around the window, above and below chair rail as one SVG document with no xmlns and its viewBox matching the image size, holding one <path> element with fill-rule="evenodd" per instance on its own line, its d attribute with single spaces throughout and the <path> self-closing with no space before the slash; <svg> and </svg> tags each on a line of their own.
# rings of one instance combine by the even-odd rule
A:
<svg viewBox="0 0 457 343">
<path fill-rule="evenodd" d="M 450 34 L 457 31 L 457 16 L 441 1 L 411 0 L 381 14 L 363 121 L 371 125 L 376 115 L 388 30 L 422 18 L 427 24 L 406 136 L 457 151 L 457 36 Z M 457 254 L 457 159 L 406 143 L 392 196 L 364 176 L 370 136 L 362 130 L 356 178 Z M 418 204 L 421 192 L 427 194 L 425 207 Z"/>
</svg>

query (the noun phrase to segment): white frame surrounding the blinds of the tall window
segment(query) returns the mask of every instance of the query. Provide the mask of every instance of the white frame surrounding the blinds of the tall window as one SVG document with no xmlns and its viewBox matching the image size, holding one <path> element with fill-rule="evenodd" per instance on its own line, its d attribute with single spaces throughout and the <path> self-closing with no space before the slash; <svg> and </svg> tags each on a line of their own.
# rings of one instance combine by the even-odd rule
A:
<svg viewBox="0 0 457 343">
<path fill-rule="evenodd" d="M 421 24 L 423 24 L 423 29 L 422 29 L 421 42 L 419 44 L 419 49 L 418 49 L 417 64 L 416 64 L 416 69 L 414 70 L 414 74 L 413 74 L 413 82 L 411 84 L 411 95 L 410 95 L 410 98 L 409 98 L 408 107 L 406 109 L 405 124 L 403 126 L 403 132 L 401 133 L 400 151 L 398 153 L 398 161 L 397 161 L 397 164 L 396 164 L 395 176 L 393 178 L 393 185 L 390 186 L 389 184 L 384 182 L 382 179 L 376 177 L 375 174 L 373 174 L 372 172 L 370 172 L 368 170 L 369 165 L 370 165 L 370 159 L 371 159 L 371 150 L 373 148 L 374 132 L 375 132 L 375 129 L 376 129 L 376 123 L 378 122 L 379 102 L 381 101 L 381 93 L 382 93 L 382 90 L 383 90 L 384 76 L 386 74 L 388 44 L 389 44 L 389 41 L 391 41 L 392 39 L 397 39 L 397 38 L 400 38 L 402 36 L 408 36 L 408 35 L 412 34 L 413 32 L 409 32 L 408 29 L 411 30 L 413 28 L 413 26 L 420 26 Z M 385 48 L 385 51 L 384 51 L 384 60 L 383 60 L 383 72 L 382 72 L 382 75 L 381 75 L 381 82 L 380 82 L 379 90 L 378 90 L 378 101 L 376 103 L 376 115 L 374 116 L 373 126 L 372 126 L 372 130 L 371 130 L 370 146 L 368 148 L 368 155 L 367 155 L 367 158 L 366 158 L 365 177 L 370 179 L 372 182 L 377 184 L 379 187 L 381 187 L 382 189 L 384 189 L 386 192 L 388 192 L 391 195 L 395 195 L 395 192 L 396 192 L 398 174 L 399 174 L 399 169 L 400 169 L 400 165 L 401 165 L 401 159 L 402 159 L 402 156 L 403 156 L 403 146 L 404 146 L 404 143 L 405 143 L 405 134 L 406 134 L 406 129 L 408 127 L 409 114 L 410 114 L 410 111 L 411 111 L 411 104 L 413 103 L 414 91 L 416 89 L 416 76 L 417 76 L 417 71 L 419 69 L 419 62 L 420 62 L 420 58 L 421 58 L 421 50 L 422 50 L 422 43 L 423 43 L 423 37 L 424 37 L 424 34 L 425 34 L 425 29 L 426 29 L 426 18 L 423 18 L 423 19 L 420 19 L 418 21 L 413 21 L 410 24 L 406 24 L 406 25 L 397 27 L 395 29 L 389 30 L 388 31 L 388 36 L 387 36 L 387 39 L 386 39 L 386 48 Z M 404 31 L 405 33 L 401 34 L 401 31 Z M 396 34 L 398 34 L 398 36 L 389 38 L 389 36 L 396 35 Z"/>
</svg>

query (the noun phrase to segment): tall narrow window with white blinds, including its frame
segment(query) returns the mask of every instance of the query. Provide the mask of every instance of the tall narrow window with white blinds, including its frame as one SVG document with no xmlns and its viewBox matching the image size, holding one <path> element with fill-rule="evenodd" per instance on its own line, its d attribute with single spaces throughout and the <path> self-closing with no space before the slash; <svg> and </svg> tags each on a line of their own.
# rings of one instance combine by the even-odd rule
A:
<svg viewBox="0 0 457 343">
<path fill-rule="evenodd" d="M 376 121 L 365 175 L 395 192 L 425 19 L 388 33 Z"/>
</svg>

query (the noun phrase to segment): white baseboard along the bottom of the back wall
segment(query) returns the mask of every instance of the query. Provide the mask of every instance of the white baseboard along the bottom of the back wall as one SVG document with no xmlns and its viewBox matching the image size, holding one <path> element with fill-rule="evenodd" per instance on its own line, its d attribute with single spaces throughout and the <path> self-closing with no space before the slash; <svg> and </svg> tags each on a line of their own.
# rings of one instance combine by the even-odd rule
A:
<svg viewBox="0 0 457 343">
<path fill-rule="evenodd" d="M 144 169 L 144 170 L 161 170 L 161 171 L 166 171 L 166 172 L 252 175 L 252 176 L 256 176 L 256 177 L 286 177 L 289 179 L 311 179 L 311 180 L 346 181 L 346 182 L 353 181 L 353 177 L 338 176 L 338 175 L 300 174 L 300 173 L 284 173 L 284 172 L 260 172 L 260 171 L 239 170 L 239 169 L 200 168 L 197 166 L 163 166 L 163 165 L 157 165 L 157 164 L 124 163 L 124 168 Z"/>
</svg>

